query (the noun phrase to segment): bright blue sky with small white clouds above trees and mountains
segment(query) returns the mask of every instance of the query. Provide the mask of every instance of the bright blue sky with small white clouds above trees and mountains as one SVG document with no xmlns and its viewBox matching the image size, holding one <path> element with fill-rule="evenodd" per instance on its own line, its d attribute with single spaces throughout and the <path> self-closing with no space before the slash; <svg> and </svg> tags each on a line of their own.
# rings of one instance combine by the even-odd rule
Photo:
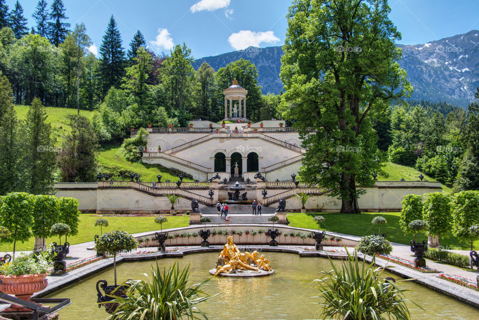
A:
<svg viewBox="0 0 479 320">
<path fill-rule="evenodd" d="M 47 0 L 48 5 L 52 0 Z M 128 48 L 139 29 L 148 45 L 169 53 L 186 44 L 195 58 L 284 42 L 290 0 L 64 0 L 72 27 L 84 22 L 96 47 L 111 14 Z M 15 0 L 6 3 L 13 7 Z M 37 0 L 20 0 L 29 26 Z M 479 0 L 390 0 L 404 44 L 425 43 L 479 29 Z M 95 51 L 95 48 L 92 47 Z"/>
</svg>

